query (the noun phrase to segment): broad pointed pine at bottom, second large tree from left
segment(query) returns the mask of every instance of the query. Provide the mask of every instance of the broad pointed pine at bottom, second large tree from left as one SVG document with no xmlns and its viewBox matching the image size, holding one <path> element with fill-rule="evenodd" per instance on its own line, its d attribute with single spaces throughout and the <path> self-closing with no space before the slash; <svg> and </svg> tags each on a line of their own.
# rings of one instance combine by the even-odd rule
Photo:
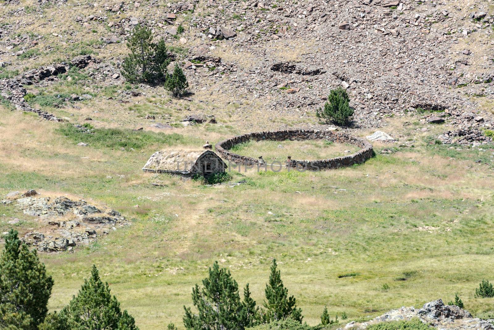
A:
<svg viewBox="0 0 494 330">
<path fill-rule="evenodd" d="M 110 294 L 108 283 L 103 284 L 94 265 L 91 277 L 84 280 L 78 295 L 73 296 L 59 317 L 66 320 L 71 330 L 139 330 L 134 318 L 121 311 L 120 303 Z"/>
</svg>

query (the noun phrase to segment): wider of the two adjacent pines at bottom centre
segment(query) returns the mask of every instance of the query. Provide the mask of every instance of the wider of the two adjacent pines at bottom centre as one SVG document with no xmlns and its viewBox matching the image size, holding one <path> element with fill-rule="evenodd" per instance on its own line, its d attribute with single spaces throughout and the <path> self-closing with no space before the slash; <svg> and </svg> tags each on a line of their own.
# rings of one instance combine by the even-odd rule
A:
<svg viewBox="0 0 494 330">
<path fill-rule="evenodd" d="M 185 309 L 183 317 L 188 330 L 243 330 L 245 329 L 243 305 L 240 301 L 239 287 L 230 271 L 219 268 L 215 261 L 209 268 L 209 277 L 203 280 L 203 288 L 196 284 L 192 289 L 192 302 L 197 308 L 193 314 L 191 308 Z"/>
</svg>

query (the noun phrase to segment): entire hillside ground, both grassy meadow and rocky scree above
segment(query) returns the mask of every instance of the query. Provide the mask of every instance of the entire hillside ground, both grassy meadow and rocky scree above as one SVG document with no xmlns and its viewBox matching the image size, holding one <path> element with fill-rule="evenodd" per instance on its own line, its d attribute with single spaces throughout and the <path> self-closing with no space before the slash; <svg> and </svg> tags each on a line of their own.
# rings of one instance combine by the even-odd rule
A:
<svg viewBox="0 0 494 330">
<path fill-rule="evenodd" d="M 482 7 L 491 19 L 492 4 L 192 2 L 193 10 L 178 1 L 0 0 L 0 80 L 76 56 L 94 61 L 23 86 L 30 106 L 65 123 L 16 109 L 0 90 L 0 200 L 34 189 L 105 204 L 131 222 L 71 252 L 40 253 L 55 281 L 50 311 L 68 303 L 95 264 L 141 330 L 170 321 L 183 329 L 183 306 L 215 260 L 262 304 L 276 258 L 309 325 L 325 305 L 331 319 L 344 312 L 346 321 L 368 320 L 455 293 L 475 316 L 494 318 L 494 298 L 474 296 L 483 279 L 494 281 L 494 146 L 438 139 L 465 127 L 494 136 L 493 25 L 470 18 Z M 187 98 L 123 79 L 136 20 L 165 40 L 169 71 L 175 62 L 184 67 Z M 170 33 L 178 26 L 182 33 Z M 210 35 L 219 26 L 236 39 Z M 284 61 L 319 71 L 271 69 Z M 316 117 L 340 86 L 356 108 L 350 127 Z M 183 124 L 189 115 L 207 123 Z M 446 122 L 428 124 L 430 115 Z M 141 170 L 158 150 L 298 128 L 362 138 L 379 129 L 397 141 L 372 142 L 373 158 L 337 170 L 237 170 L 231 182 L 242 183 L 233 187 Z M 234 150 L 269 163 L 356 148 L 263 141 Z M 0 204 L 0 233 L 40 226 L 15 203 Z"/>
</svg>

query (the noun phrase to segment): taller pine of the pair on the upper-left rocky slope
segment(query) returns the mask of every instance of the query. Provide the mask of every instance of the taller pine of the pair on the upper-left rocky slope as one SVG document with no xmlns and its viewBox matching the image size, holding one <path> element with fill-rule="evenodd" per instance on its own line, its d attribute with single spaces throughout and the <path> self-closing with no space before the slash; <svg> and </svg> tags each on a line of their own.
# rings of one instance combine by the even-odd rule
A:
<svg viewBox="0 0 494 330">
<path fill-rule="evenodd" d="M 130 54 L 122 63 L 122 76 L 129 82 L 155 83 L 163 79 L 170 63 L 165 41 L 153 42 L 153 32 L 138 24 L 127 41 Z"/>
</svg>

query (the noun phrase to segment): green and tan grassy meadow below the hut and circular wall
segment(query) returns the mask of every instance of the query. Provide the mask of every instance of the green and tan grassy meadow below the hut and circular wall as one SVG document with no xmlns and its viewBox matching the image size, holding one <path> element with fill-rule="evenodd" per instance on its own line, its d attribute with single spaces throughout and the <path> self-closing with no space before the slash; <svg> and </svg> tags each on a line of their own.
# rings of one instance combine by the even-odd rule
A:
<svg viewBox="0 0 494 330">
<path fill-rule="evenodd" d="M 80 147 L 60 135 L 61 124 L 3 114 L 1 194 L 68 194 L 106 203 L 132 220 L 130 228 L 74 253 L 41 254 L 55 279 L 51 309 L 69 301 L 94 263 L 142 329 L 163 329 L 170 320 L 180 324 L 192 286 L 214 260 L 241 286 L 250 283 L 260 303 L 276 257 L 309 324 L 318 322 L 323 305 L 332 315 L 366 318 L 455 292 L 477 315 L 492 310 L 492 299 L 474 298 L 474 289 L 492 276 L 493 172 L 476 160 L 493 150 L 449 149 L 407 130 L 413 147 L 397 143 L 395 153 L 381 155 L 376 145 L 377 155 L 364 165 L 249 170 L 233 173 L 234 181 L 246 180 L 239 186 L 205 187 L 142 172 L 162 147 L 153 140 L 135 151 Z M 184 128 L 175 143 L 193 145 L 187 137 L 206 130 Z M 10 217 L 22 219 L 15 225 L 21 234 L 33 227 L 13 205 L 2 213 L 1 231 L 11 227 Z"/>
</svg>

